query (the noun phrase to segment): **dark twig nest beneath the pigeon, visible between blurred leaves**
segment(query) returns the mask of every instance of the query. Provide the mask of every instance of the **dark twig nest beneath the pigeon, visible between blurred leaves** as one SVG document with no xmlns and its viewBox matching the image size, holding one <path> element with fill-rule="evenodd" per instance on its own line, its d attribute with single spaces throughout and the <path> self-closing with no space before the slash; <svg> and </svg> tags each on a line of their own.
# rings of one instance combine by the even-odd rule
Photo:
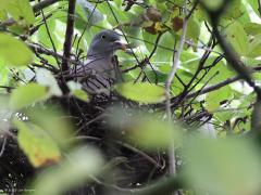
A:
<svg viewBox="0 0 261 195">
<path fill-rule="evenodd" d="M 109 180 L 113 184 L 112 186 L 135 188 L 167 173 L 169 166 L 165 152 L 147 153 L 136 145 L 124 142 L 121 133 L 119 131 L 115 133 L 104 117 L 108 107 L 114 105 L 139 110 L 164 109 L 164 105 L 141 106 L 117 94 L 111 94 L 110 96 L 95 95 L 88 103 L 75 98 L 66 101 L 62 99 L 50 101 L 61 105 L 65 113 L 72 116 L 76 129 L 76 140 L 100 148 L 107 161 L 115 165 L 113 174 L 104 176 L 102 179 L 104 183 Z M 194 110 L 186 105 L 184 118 L 184 121 L 192 127 L 201 126 L 211 116 L 203 108 L 202 110 Z M 15 140 L 11 136 L 1 140 L 4 141 L 2 144 L 5 144 L 5 146 L 0 160 L 0 188 L 5 192 L 12 192 L 14 188 L 24 188 L 34 179 L 37 170 L 30 166 Z M 104 185 L 104 183 L 88 183 L 79 191 L 73 191 L 71 194 L 108 194 L 108 185 Z"/>
</svg>

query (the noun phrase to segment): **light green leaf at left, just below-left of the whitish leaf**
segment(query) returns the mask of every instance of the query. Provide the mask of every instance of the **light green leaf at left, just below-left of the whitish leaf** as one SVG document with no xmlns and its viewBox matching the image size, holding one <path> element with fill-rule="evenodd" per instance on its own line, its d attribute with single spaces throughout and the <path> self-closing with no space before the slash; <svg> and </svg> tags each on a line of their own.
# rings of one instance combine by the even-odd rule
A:
<svg viewBox="0 0 261 195">
<path fill-rule="evenodd" d="M 28 83 L 13 90 L 10 99 L 10 106 L 13 109 L 21 109 L 36 102 L 48 98 L 48 90 L 37 83 Z"/>
</svg>

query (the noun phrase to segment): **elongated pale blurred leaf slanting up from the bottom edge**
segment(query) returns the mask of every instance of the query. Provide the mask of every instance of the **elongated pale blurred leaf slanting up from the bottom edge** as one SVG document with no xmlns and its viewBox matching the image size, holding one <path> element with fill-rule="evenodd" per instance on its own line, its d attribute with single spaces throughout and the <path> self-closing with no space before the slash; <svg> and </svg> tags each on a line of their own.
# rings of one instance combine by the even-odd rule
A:
<svg viewBox="0 0 261 195">
<path fill-rule="evenodd" d="M 64 194 L 100 173 L 102 166 L 99 151 L 91 147 L 75 150 L 59 167 L 49 168 L 38 176 L 33 184 L 35 195 Z"/>
</svg>

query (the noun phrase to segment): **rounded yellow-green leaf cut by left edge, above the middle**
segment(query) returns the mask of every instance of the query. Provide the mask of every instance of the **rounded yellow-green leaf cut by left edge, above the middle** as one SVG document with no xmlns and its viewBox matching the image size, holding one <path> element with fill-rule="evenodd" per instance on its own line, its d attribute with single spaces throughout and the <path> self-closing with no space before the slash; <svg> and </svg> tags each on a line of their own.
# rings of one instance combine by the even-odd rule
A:
<svg viewBox="0 0 261 195">
<path fill-rule="evenodd" d="M 21 40 L 0 32 L 0 58 L 10 66 L 27 65 L 33 60 L 33 52 Z"/>
</svg>

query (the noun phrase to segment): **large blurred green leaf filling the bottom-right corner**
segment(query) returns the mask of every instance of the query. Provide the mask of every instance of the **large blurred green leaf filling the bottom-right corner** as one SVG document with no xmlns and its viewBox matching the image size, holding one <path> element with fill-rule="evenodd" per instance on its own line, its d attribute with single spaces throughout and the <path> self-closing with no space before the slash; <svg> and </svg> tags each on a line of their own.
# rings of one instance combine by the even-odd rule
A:
<svg viewBox="0 0 261 195">
<path fill-rule="evenodd" d="M 244 139 L 194 138 L 187 142 L 186 181 L 210 194 L 259 194 L 261 158 Z"/>
</svg>

